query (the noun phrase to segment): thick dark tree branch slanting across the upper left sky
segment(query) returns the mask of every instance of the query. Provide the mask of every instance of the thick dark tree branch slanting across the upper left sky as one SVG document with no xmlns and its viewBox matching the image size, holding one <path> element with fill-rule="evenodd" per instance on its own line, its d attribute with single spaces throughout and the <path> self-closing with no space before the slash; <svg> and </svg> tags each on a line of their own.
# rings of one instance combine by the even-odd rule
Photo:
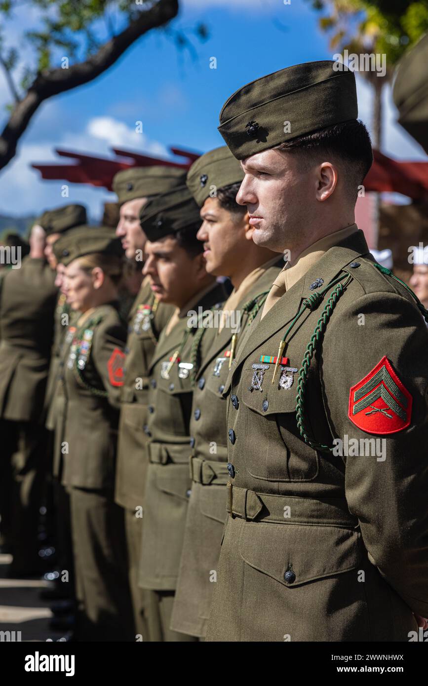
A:
<svg viewBox="0 0 428 686">
<path fill-rule="evenodd" d="M 27 95 L 19 101 L 0 136 L 0 169 L 16 153 L 16 144 L 37 108 L 53 95 L 70 91 L 94 80 L 119 59 L 145 33 L 165 25 L 178 14 L 178 0 L 159 0 L 150 10 L 141 12 L 126 29 L 107 41 L 95 55 L 69 69 L 49 69 L 37 75 Z"/>
</svg>

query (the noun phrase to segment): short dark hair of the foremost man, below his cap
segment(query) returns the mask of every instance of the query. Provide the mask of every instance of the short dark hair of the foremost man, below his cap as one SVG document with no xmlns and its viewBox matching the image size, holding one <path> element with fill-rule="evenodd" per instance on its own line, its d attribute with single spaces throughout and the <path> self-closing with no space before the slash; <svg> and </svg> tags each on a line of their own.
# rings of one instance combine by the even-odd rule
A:
<svg viewBox="0 0 428 686">
<path fill-rule="evenodd" d="M 281 143 L 279 150 L 298 150 L 307 161 L 316 157 L 336 158 L 346 171 L 346 186 L 350 198 L 357 200 L 358 186 L 362 184 L 372 166 L 373 152 L 370 134 L 359 119 L 344 121 L 305 136 Z"/>
</svg>

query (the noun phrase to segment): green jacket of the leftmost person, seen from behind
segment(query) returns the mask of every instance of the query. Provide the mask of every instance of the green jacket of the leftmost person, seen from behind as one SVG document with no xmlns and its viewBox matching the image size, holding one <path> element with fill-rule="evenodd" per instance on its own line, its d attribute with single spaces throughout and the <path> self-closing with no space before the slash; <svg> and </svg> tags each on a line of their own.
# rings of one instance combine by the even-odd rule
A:
<svg viewBox="0 0 428 686">
<path fill-rule="evenodd" d="M 25 257 L 0 296 L 0 418 L 38 422 L 43 408 L 58 289 L 44 259 Z"/>
</svg>

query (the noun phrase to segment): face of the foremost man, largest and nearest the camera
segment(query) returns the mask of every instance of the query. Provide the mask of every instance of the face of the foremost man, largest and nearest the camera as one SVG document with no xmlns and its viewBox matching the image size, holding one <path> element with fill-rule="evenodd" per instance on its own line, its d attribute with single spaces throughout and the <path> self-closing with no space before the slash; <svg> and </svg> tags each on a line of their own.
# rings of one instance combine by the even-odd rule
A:
<svg viewBox="0 0 428 686">
<path fill-rule="evenodd" d="M 313 215 L 316 174 L 301 171 L 298 154 L 265 150 L 241 162 L 245 177 L 237 202 L 246 205 L 254 243 L 276 252 L 291 250 Z"/>
</svg>

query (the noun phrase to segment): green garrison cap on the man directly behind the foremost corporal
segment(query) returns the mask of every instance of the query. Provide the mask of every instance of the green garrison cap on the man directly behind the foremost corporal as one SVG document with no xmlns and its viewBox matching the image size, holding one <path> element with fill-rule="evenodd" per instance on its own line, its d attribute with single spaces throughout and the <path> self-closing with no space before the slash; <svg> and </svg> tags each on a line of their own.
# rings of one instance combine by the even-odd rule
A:
<svg viewBox="0 0 428 686">
<path fill-rule="evenodd" d="M 243 179 L 242 167 L 228 149 L 227 145 L 216 147 L 199 157 L 187 174 L 187 187 L 200 207 L 215 192 Z M 213 188 L 214 187 L 214 188 Z"/>
</svg>

